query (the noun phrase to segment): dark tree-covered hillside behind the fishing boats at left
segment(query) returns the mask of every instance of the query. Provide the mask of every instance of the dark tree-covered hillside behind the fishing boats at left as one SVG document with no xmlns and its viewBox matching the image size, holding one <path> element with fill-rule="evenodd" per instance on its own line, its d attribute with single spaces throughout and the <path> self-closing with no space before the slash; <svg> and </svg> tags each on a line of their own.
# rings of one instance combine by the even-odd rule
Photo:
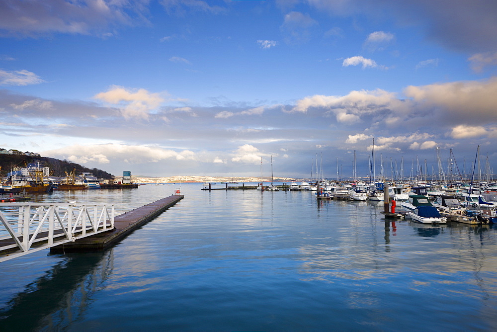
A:
<svg viewBox="0 0 497 332">
<path fill-rule="evenodd" d="M 50 175 L 53 176 L 66 176 L 66 172 L 69 174 L 74 169 L 76 169 L 76 175 L 80 175 L 83 172 L 92 173 L 93 176 L 97 178 L 110 179 L 113 177 L 112 174 L 107 173 L 104 170 L 98 168 L 87 168 L 76 163 L 71 163 L 67 160 L 59 160 L 55 158 L 48 157 L 30 157 L 23 155 L 3 155 L 0 154 L 0 174 L 1 176 L 6 176 L 6 174 L 12 170 L 14 167 L 26 167 L 28 164 L 38 164 L 40 167 L 49 167 Z"/>
</svg>

